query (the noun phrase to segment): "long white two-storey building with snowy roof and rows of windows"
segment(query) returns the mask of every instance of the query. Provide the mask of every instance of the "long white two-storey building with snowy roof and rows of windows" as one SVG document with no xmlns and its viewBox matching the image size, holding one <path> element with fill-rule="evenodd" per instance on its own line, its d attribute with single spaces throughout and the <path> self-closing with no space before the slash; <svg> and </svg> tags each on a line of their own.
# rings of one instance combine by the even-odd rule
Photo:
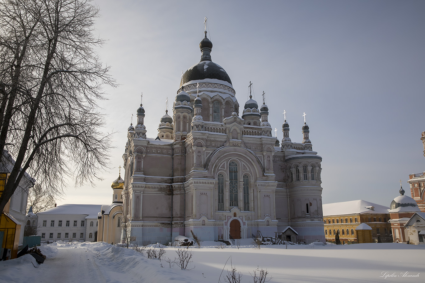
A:
<svg viewBox="0 0 425 283">
<path fill-rule="evenodd" d="M 102 205 L 59 205 L 37 213 L 42 242 L 97 241 L 97 213 Z"/>
</svg>

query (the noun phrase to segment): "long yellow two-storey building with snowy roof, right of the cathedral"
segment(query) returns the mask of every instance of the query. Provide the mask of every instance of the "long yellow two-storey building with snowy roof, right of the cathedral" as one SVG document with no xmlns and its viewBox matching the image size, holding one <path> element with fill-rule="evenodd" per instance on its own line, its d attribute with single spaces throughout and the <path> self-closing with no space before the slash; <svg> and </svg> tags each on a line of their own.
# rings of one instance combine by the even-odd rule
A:
<svg viewBox="0 0 425 283">
<path fill-rule="evenodd" d="M 341 244 L 358 243 L 356 228 L 361 223 L 371 227 L 372 241 L 392 242 L 389 207 L 364 200 L 335 202 L 323 205 L 326 241 L 334 242 L 339 232 Z"/>
</svg>

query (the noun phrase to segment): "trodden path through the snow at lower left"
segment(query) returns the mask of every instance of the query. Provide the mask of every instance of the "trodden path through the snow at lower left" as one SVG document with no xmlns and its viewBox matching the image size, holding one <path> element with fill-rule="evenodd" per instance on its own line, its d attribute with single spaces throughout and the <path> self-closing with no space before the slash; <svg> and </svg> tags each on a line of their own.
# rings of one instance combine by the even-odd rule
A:
<svg viewBox="0 0 425 283">
<path fill-rule="evenodd" d="M 85 248 L 57 248 L 53 258 L 43 263 L 37 282 L 106 283 L 96 265 L 96 259 Z"/>
</svg>

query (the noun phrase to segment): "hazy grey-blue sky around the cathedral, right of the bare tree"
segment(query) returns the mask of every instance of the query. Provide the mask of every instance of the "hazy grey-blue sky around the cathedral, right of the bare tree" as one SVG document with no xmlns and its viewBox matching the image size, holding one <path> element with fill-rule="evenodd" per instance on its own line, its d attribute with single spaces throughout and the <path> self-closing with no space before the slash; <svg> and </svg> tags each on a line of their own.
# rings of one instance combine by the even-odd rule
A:
<svg viewBox="0 0 425 283">
<path fill-rule="evenodd" d="M 114 132 L 111 169 L 94 186 L 70 182 L 57 203 L 109 204 L 123 165 L 131 115 L 143 92 L 144 124 L 156 137 L 181 71 L 199 62 L 207 17 L 212 61 L 227 71 L 241 107 L 252 81 L 266 93 L 269 123 L 293 142 L 303 113 L 323 158 L 323 203 L 364 199 L 389 206 L 400 182 L 425 171 L 424 1 L 97 0 L 98 49 L 119 87 L 105 87 L 105 132 Z M 135 119 L 135 118 L 134 118 Z M 275 133 L 274 131 L 272 132 Z"/>
</svg>

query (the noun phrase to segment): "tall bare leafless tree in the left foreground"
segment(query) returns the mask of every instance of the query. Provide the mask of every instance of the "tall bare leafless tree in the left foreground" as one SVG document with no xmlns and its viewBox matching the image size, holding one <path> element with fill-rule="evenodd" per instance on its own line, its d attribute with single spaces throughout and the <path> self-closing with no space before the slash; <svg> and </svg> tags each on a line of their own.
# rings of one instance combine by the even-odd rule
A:
<svg viewBox="0 0 425 283">
<path fill-rule="evenodd" d="M 89 0 L 0 1 L 0 152 L 15 159 L 0 211 L 26 172 L 60 193 L 108 166 L 96 102 L 115 82 L 94 49 L 98 11 Z"/>
</svg>

